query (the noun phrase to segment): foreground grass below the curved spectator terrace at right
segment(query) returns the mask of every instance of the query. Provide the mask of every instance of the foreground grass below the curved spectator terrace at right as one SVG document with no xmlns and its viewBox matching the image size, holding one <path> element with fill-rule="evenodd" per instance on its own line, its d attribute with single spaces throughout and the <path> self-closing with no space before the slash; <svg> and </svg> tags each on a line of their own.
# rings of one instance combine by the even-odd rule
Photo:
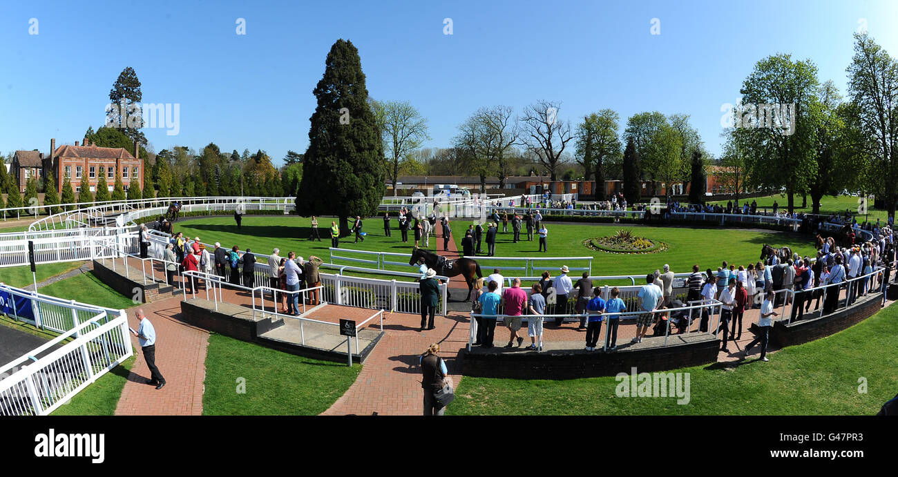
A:
<svg viewBox="0 0 898 477">
<path fill-rule="evenodd" d="M 615 377 L 516 380 L 464 377 L 446 414 L 469 415 L 872 415 L 898 391 L 898 307 L 838 334 L 751 359 L 676 369 L 690 373 L 690 401 L 617 397 Z M 859 392 L 859 379 L 867 383 Z"/>
</svg>

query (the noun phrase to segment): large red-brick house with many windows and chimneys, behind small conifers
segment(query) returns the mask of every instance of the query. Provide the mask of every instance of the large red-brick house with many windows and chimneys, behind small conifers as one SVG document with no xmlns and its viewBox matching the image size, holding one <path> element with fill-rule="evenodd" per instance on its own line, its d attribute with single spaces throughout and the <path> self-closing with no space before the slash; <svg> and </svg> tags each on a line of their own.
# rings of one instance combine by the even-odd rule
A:
<svg viewBox="0 0 898 477">
<path fill-rule="evenodd" d="M 135 159 L 135 156 L 125 148 L 99 147 L 86 140 L 83 145 L 78 145 L 75 141 L 74 146 L 61 145 L 56 148 L 56 140 L 51 139 L 50 150 L 53 151 L 52 169 L 60 193 L 66 176 L 71 181 L 75 194 L 81 190 L 81 178 L 84 175 L 87 176 L 92 193 L 96 193 L 97 181 L 101 174 L 105 176 L 106 186 L 110 192 L 115 186 L 117 171 L 121 173 L 121 181 L 126 191 L 132 183 L 137 186 L 144 183 L 144 161 Z"/>
</svg>

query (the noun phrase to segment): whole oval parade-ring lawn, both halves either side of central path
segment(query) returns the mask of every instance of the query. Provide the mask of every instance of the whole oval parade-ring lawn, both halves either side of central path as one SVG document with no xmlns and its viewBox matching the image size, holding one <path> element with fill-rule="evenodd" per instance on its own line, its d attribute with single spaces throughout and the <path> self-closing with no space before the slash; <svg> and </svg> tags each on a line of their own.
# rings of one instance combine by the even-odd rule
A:
<svg viewBox="0 0 898 477">
<path fill-rule="evenodd" d="M 330 221 L 321 221 L 321 223 Z M 353 243 L 354 238 L 342 239 L 340 247 L 358 250 L 377 250 L 384 252 L 410 253 L 413 242 L 403 244 L 400 241 L 399 230 L 393 230 L 392 237 L 383 236 L 383 222 L 380 219 L 368 219 L 365 221 L 365 230 L 369 235 L 365 242 Z M 453 221 L 453 237 L 456 246 L 461 249 L 461 241 L 464 230 L 470 221 Z M 802 255 L 814 253 L 814 244 L 806 236 L 789 234 L 785 232 L 773 232 L 767 230 L 722 230 L 715 228 L 692 229 L 678 227 L 641 227 L 626 225 L 556 225 L 546 222 L 549 230 L 548 254 L 537 252 L 539 242 L 512 243 L 511 228 L 507 234 L 497 234 L 497 256 L 594 256 L 593 274 L 618 275 L 631 273 L 654 272 L 665 264 L 671 265 L 674 272 L 690 272 L 693 264 L 699 264 L 702 270 L 720 266 L 722 260 L 727 260 L 738 265 L 748 265 L 758 261 L 761 256 L 761 247 L 765 243 L 777 247 L 788 246 Z M 392 222 L 394 228 L 398 225 Z M 374 227 L 376 225 L 376 227 Z M 619 255 L 607 254 L 590 250 L 583 245 L 583 240 L 605 235 L 613 235 L 617 230 L 630 229 L 639 236 L 649 239 L 658 239 L 665 242 L 669 248 L 664 252 L 647 255 Z M 234 244 L 245 249 L 250 247 L 254 252 L 264 254 L 271 253 L 272 247 L 281 249 L 281 256 L 294 250 L 298 255 L 321 256 L 329 261 L 330 240 L 326 237 L 321 242 L 307 240 L 309 234 L 309 220 L 301 217 L 281 216 L 247 216 L 243 218 L 242 230 L 238 233 L 233 219 L 230 217 L 214 217 L 199 219 L 196 221 L 183 221 L 175 223 L 175 231 L 183 231 L 184 235 L 199 237 L 207 243 L 221 242 L 223 247 Z M 327 229 L 321 230 L 326 232 Z M 525 232 L 526 230 L 524 230 Z M 522 234 L 526 237 L 526 234 Z M 431 238 L 431 249 L 436 247 L 436 241 L 442 247 L 442 239 Z M 486 249 L 486 244 L 483 244 Z M 502 262 L 482 261 L 480 266 L 484 275 L 491 273 L 494 265 L 507 265 Z M 554 273 L 562 264 L 547 264 Z M 568 264 L 573 266 L 574 264 Z M 362 265 L 360 265 L 362 266 Z M 373 266 L 373 265 L 371 265 Z M 405 272 L 416 272 L 416 268 L 390 267 Z M 349 273 L 359 275 L 358 273 Z M 506 273 L 509 274 L 509 273 Z M 383 278 L 380 276 L 379 278 Z M 628 281 L 629 283 L 629 281 Z"/>
</svg>

